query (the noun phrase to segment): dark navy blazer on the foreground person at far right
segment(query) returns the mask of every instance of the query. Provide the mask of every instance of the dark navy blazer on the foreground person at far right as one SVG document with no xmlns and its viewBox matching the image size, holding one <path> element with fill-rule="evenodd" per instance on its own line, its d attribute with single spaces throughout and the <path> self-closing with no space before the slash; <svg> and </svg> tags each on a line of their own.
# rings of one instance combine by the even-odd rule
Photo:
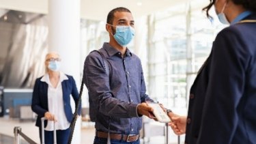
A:
<svg viewBox="0 0 256 144">
<path fill-rule="evenodd" d="M 256 23 L 216 36 L 190 89 L 185 143 L 256 143 Z"/>
</svg>

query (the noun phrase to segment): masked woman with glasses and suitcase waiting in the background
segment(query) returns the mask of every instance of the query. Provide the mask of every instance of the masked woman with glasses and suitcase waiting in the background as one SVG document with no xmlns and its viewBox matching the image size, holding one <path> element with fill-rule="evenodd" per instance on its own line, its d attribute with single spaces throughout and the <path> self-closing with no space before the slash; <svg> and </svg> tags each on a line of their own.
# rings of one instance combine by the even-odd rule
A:
<svg viewBox="0 0 256 144">
<path fill-rule="evenodd" d="M 45 117 L 47 119 L 44 121 L 44 140 L 46 144 L 53 143 L 53 121 L 55 121 L 57 130 L 57 143 L 68 143 L 69 127 L 73 118 L 70 95 L 75 103 L 79 99 L 74 78 L 59 71 L 60 60 L 57 53 L 46 55 L 46 74 L 36 79 L 33 88 L 31 108 L 38 115 L 35 126 L 39 127 L 40 141 L 42 142 L 41 118 Z"/>
</svg>

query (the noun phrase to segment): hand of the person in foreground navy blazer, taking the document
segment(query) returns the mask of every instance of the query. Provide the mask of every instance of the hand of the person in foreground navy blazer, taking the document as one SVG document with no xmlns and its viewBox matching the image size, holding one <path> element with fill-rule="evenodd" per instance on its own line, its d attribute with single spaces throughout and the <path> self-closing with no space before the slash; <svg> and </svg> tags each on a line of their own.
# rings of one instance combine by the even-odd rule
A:
<svg viewBox="0 0 256 144">
<path fill-rule="evenodd" d="M 171 118 L 171 122 L 168 124 L 173 129 L 173 132 L 177 135 L 186 133 L 186 116 L 176 115 L 174 113 L 168 113 Z"/>
</svg>

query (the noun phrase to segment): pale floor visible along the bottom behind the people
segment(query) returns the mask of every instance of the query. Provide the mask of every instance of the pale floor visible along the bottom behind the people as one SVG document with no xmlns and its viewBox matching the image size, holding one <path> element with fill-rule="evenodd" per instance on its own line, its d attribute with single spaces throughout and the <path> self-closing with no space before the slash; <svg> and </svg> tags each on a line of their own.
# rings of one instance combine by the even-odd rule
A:
<svg viewBox="0 0 256 144">
<path fill-rule="evenodd" d="M 94 124 L 83 122 L 81 124 L 81 144 L 90 144 L 94 141 Z M 35 143 L 40 143 L 38 128 L 35 126 L 35 121 L 20 121 L 19 119 L 0 117 L 0 144 L 13 144 L 14 143 L 14 127 L 19 126 L 21 131 L 29 136 Z M 171 143 L 177 143 L 177 136 L 170 134 Z M 164 136 L 151 137 L 150 141 L 145 144 L 164 144 Z M 28 144 L 22 139 L 20 144 Z M 141 144 L 143 139 L 141 139 Z"/>
</svg>

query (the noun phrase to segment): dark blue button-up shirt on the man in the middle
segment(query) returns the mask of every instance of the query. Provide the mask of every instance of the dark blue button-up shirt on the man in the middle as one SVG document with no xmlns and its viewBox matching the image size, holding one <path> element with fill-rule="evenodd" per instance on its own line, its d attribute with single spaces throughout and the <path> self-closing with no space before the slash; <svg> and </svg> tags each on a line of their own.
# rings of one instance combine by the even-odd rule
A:
<svg viewBox="0 0 256 144">
<path fill-rule="evenodd" d="M 109 68 L 104 68 L 106 63 L 96 51 L 86 57 L 84 65 L 84 82 L 96 108 L 96 130 L 139 134 L 142 119 L 137 106 L 153 101 L 145 93 L 141 61 L 128 48 L 122 57 L 109 43 L 104 43 L 102 54 Z"/>
</svg>

